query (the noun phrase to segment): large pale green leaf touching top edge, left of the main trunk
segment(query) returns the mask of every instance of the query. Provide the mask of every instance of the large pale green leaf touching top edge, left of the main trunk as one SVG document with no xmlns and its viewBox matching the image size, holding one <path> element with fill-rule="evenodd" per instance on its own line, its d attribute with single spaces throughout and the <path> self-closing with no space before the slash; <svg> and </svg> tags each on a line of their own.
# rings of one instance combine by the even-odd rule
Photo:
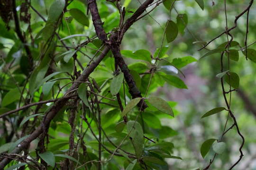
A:
<svg viewBox="0 0 256 170">
<path fill-rule="evenodd" d="M 56 21 L 65 7 L 65 0 L 55 0 L 49 9 L 49 21 Z"/>
</svg>

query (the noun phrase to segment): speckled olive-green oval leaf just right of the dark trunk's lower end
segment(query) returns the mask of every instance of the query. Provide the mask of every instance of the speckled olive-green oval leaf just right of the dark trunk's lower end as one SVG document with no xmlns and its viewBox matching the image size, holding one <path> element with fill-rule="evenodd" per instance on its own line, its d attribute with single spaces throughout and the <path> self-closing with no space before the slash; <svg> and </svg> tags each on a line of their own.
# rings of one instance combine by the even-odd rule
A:
<svg viewBox="0 0 256 170">
<path fill-rule="evenodd" d="M 147 101 L 154 107 L 156 107 L 158 110 L 174 117 L 174 112 L 172 108 L 169 106 L 167 102 L 165 102 L 165 100 L 159 97 L 151 96 L 147 99 Z"/>
</svg>

